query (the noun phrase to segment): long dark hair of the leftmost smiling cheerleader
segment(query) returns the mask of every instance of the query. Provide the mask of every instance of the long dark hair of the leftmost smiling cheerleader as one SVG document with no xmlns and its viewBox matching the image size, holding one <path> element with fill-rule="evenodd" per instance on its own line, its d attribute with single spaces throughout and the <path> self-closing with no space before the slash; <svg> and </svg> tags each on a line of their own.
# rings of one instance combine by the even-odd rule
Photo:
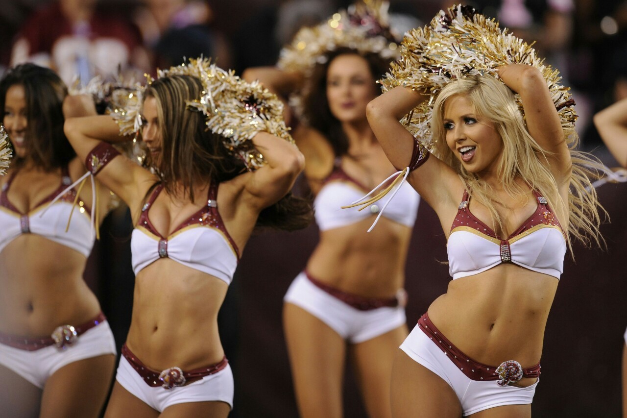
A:
<svg viewBox="0 0 627 418">
<path fill-rule="evenodd" d="M 66 166 L 76 153 L 63 133 L 63 99 L 68 95 L 65 83 L 50 68 L 31 63 L 10 68 L 0 80 L 3 120 L 6 94 L 14 85 L 21 85 L 26 96 L 26 158 L 46 171 Z M 16 156 L 14 163 L 19 166 L 26 158 Z"/>
</svg>

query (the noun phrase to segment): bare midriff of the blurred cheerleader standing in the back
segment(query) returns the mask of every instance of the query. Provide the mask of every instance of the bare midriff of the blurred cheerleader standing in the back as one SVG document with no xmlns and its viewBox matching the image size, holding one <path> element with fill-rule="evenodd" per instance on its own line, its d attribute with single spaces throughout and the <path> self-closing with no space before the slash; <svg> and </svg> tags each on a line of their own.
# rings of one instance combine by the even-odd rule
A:
<svg viewBox="0 0 627 418">
<path fill-rule="evenodd" d="M 411 228 L 374 217 L 320 232 L 307 272 L 329 286 L 364 297 L 391 297 L 404 286 Z"/>
</svg>

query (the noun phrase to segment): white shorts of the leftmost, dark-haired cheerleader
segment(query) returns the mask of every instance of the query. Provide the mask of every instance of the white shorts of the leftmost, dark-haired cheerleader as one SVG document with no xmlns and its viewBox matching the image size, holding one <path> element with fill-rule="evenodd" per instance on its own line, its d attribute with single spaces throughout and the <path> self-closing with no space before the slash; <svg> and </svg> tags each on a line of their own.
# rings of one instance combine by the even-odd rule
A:
<svg viewBox="0 0 627 418">
<path fill-rule="evenodd" d="M 115 340 L 107 321 L 85 331 L 74 345 L 65 350 L 51 345 L 26 351 L 0 344 L 0 364 L 40 389 L 43 389 L 48 378 L 61 367 L 105 354 L 116 354 Z"/>
</svg>

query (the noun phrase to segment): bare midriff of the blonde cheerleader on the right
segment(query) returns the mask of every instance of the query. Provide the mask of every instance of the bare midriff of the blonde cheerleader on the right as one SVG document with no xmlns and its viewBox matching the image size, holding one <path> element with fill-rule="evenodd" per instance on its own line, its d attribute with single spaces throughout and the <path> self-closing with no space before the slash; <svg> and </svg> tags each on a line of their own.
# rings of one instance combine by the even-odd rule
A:
<svg viewBox="0 0 627 418">
<path fill-rule="evenodd" d="M 451 281 L 428 314 L 463 353 L 486 365 L 540 361 L 544 329 L 559 281 L 512 263 Z"/>
</svg>

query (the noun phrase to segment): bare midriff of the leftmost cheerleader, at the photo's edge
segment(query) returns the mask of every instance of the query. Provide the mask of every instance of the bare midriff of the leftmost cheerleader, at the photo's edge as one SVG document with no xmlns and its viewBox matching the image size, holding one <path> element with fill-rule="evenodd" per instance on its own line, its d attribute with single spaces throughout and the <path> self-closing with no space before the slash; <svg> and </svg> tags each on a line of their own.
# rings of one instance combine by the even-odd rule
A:
<svg viewBox="0 0 627 418">
<path fill-rule="evenodd" d="M 83 280 L 86 263 L 76 250 L 40 235 L 15 238 L 0 252 L 0 332 L 44 337 L 97 316 L 100 305 Z"/>
</svg>

